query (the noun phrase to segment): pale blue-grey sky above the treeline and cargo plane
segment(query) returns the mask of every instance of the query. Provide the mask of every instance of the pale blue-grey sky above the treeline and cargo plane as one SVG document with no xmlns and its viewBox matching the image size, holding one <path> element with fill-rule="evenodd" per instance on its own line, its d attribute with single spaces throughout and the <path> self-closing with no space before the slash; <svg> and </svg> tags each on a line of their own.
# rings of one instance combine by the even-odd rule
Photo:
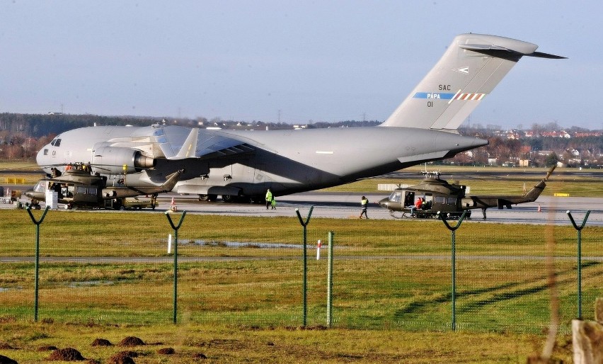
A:
<svg viewBox="0 0 603 364">
<path fill-rule="evenodd" d="M 0 112 L 385 120 L 455 35 L 533 42 L 466 123 L 603 129 L 603 2 L 0 0 Z"/>
</svg>

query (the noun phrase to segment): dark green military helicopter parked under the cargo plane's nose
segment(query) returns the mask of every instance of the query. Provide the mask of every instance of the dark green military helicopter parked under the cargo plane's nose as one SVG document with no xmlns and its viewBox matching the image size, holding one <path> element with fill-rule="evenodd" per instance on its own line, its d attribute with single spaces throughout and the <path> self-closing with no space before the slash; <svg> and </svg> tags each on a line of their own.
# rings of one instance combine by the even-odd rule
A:
<svg viewBox="0 0 603 364">
<path fill-rule="evenodd" d="M 65 205 L 65 208 L 74 207 L 109 207 L 121 209 L 127 197 L 138 195 L 152 195 L 151 207 L 155 207 L 155 198 L 158 193 L 168 192 L 178 182 L 183 170 L 176 171 L 166 176 L 161 184 L 149 181 L 148 186 L 128 186 L 124 178 L 116 181 L 113 186 L 107 186 L 107 178 L 100 174 L 92 173 L 90 164 L 76 163 L 67 164 L 63 172 L 52 167 L 52 174 L 42 178 L 33 189 L 25 191 L 25 195 L 31 199 L 33 207 L 39 206 L 39 201 L 47 198 Z M 48 201 L 47 201 L 48 203 Z"/>
</svg>

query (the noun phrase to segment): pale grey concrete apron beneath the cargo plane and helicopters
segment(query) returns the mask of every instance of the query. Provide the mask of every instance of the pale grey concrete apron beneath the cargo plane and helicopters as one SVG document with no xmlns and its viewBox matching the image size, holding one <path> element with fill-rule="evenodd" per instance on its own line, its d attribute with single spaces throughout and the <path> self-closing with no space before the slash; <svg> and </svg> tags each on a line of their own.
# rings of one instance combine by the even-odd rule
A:
<svg viewBox="0 0 603 364">
<path fill-rule="evenodd" d="M 250 203 L 223 203 L 217 200 L 214 203 L 200 202 L 197 195 L 178 195 L 176 193 L 165 193 L 159 195 L 159 207 L 155 211 L 163 212 L 170 210 L 172 199 L 178 210 L 186 210 L 191 213 L 234 215 L 234 216 L 292 216 L 295 217 L 296 209 L 302 217 L 307 217 L 309 209 L 314 206 L 312 217 L 331 217 L 336 219 L 357 219 L 360 215 L 360 198 L 362 193 L 324 193 L 304 192 L 277 197 L 276 210 L 266 210 L 265 205 Z M 374 220 L 401 220 L 401 212 L 392 214 L 379 207 L 378 202 L 385 198 L 387 193 L 365 193 L 369 199 L 369 219 Z M 23 199 L 25 203 L 26 199 Z M 42 204 L 42 207 L 44 205 Z M 15 208 L 15 205 L 0 203 L 0 209 Z M 59 210 L 62 205 L 59 205 Z M 484 223 L 514 223 L 514 224 L 570 224 L 566 211 L 570 210 L 574 220 L 580 224 L 587 210 L 590 215 L 587 220 L 588 226 L 603 226 L 603 198 L 576 198 L 576 197 L 553 197 L 541 196 L 534 203 L 513 205 L 512 209 L 498 210 L 489 208 L 486 210 L 487 219 L 483 220 L 481 210 L 472 210 L 469 221 Z M 111 212 L 112 210 L 92 210 Z M 117 212 L 117 211 L 113 211 Z M 404 218 L 403 221 L 414 219 Z"/>
</svg>

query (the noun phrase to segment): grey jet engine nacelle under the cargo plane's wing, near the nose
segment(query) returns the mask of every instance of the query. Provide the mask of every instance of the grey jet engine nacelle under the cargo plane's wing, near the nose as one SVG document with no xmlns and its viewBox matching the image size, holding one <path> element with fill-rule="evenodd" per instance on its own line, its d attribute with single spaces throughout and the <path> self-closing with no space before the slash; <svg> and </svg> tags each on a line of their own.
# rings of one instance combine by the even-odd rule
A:
<svg viewBox="0 0 603 364">
<path fill-rule="evenodd" d="M 98 170 L 101 174 L 122 174 L 153 168 L 155 159 L 130 148 L 98 147 L 94 149 L 92 164 L 93 170 Z"/>
</svg>

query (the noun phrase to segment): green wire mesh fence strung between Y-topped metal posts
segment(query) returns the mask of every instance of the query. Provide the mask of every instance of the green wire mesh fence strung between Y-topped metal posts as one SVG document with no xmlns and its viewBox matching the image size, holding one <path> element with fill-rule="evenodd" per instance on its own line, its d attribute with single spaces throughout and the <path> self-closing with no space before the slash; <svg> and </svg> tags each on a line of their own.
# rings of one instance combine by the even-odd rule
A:
<svg viewBox="0 0 603 364">
<path fill-rule="evenodd" d="M 3 212 L 0 318 L 33 319 L 35 229 L 25 212 L 11 214 Z M 451 234 L 438 220 L 312 218 L 308 326 L 327 324 L 329 231 L 333 326 L 452 329 Z M 40 225 L 40 320 L 171 322 L 172 233 L 158 212 L 49 212 Z M 178 322 L 302 326 L 302 233 L 297 217 L 187 215 L 178 231 Z M 601 227 L 582 231 L 583 307 L 603 296 L 602 236 Z M 558 300 L 559 329 L 570 331 L 578 307 L 575 247 L 569 222 L 464 222 L 456 231 L 456 329 L 540 332 Z M 592 319 L 592 309 L 584 314 Z"/>
</svg>

